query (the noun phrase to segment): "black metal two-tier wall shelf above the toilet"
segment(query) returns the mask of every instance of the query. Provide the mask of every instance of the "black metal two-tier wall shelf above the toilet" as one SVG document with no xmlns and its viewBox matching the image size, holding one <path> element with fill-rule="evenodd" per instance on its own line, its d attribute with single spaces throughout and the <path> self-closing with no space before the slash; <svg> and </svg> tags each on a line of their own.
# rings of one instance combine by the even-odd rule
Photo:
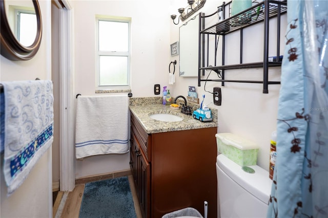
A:
<svg viewBox="0 0 328 218">
<path fill-rule="evenodd" d="M 268 71 L 269 67 L 280 67 L 281 60 L 277 58 L 276 61 L 269 61 L 269 19 L 276 17 L 277 18 L 277 44 L 276 44 L 276 57 L 280 57 L 280 20 L 281 15 L 287 12 L 287 3 L 280 1 L 271 1 L 265 0 L 261 3 L 253 5 L 251 8 L 244 10 L 236 15 L 231 16 L 231 2 L 225 3 L 219 7 L 223 9 L 223 17 L 224 13 L 229 11 L 229 17 L 222 20 L 215 25 L 212 25 L 208 28 L 204 28 L 203 25 L 199 25 L 199 61 L 198 61 L 198 86 L 200 86 L 201 81 L 218 81 L 222 82 L 222 86 L 224 82 L 246 82 L 246 83 L 263 83 L 263 93 L 269 93 L 268 85 L 269 84 L 280 84 L 280 81 L 269 81 Z M 228 7 L 228 8 L 227 8 Z M 267 10 L 269 9 L 269 10 Z M 216 15 L 217 11 L 210 15 L 199 14 L 199 24 L 204 22 L 204 19 Z M 243 63 L 242 62 L 242 34 L 243 29 L 249 26 L 263 23 L 264 25 L 264 50 L 263 50 L 263 62 L 253 62 L 253 63 Z M 226 45 L 224 44 L 224 38 L 229 33 L 240 31 L 240 58 L 238 64 L 224 64 L 224 49 Z M 222 64 L 221 66 L 216 66 L 216 57 L 217 52 L 215 50 L 214 54 L 214 65 L 209 65 L 209 36 L 215 35 L 215 43 L 217 41 L 217 37 L 220 35 L 222 37 Z M 206 43 L 207 39 L 207 43 Z M 207 44 L 207 45 L 206 45 Z M 207 48 L 207 53 L 206 53 Z M 200 61 L 200 57 L 201 60 Z M 207 66 L 205 66 L 205 57 L 207 57 Z M 255 81 L 255 80 L 226 80 L 224 79 L 224 71 L 231 69 L 245 69 L 245 68 L 263 68 L 263 80 Z M 204 75 L 205 70 L 220 70 L 221 71 L 221 79 L 201 79 L 201 72 Z"/>
</svg>

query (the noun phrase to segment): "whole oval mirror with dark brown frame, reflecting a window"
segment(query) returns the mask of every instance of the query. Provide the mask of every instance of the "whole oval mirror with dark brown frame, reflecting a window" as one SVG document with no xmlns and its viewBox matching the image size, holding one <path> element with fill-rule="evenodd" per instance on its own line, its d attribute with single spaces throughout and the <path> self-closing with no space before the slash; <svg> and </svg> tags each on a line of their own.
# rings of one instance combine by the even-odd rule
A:
<svg viewBox="0 0 328 218">
<path fill-rule="evenodd" d="M 1 54 L 9 60 L 29 60 L 38 51 L 42 17 L 37 0 L 1 0 Z"/>
</svg>

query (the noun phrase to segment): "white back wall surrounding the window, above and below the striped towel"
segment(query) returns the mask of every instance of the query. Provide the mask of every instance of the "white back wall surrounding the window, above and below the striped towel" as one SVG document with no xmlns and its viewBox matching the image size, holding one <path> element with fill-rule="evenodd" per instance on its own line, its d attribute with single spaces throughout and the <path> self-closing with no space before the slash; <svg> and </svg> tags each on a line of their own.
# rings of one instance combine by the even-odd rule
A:
<svg viewBox="0 0 328 218">
<path fill-rule="evenodd" d="M 154 95 L 154 84 L 168 81 L 169 5 L 159 0 L 72 1 L 75 13 L 75 94 L 95 94 L 95 15 L 132 17 L 131 90 Z M 75 178 L 129 169 L 129 153 L 100 155 L 75 162 Z"/>
</svg>

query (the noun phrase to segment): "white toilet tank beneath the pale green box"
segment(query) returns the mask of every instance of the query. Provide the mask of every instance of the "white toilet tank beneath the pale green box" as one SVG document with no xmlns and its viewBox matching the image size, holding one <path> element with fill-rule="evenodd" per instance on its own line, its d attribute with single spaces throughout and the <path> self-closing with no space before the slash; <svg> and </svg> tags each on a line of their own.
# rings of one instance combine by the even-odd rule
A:
<svg viewBox="0 0 328 218">
<path fill-rule="evenodd" d="M 224 155 L 217 156 L 216 170 L 221 217 L 266 217 L 272 180 L 261 167 L 249 166 L 254 173 Z"/>
</svg>

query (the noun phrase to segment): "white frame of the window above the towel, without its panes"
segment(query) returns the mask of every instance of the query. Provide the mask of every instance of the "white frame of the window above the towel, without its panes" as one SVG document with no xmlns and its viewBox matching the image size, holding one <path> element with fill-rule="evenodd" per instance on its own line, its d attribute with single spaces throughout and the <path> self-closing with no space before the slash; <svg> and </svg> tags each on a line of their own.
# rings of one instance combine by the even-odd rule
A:
<svg viewBox="0 0 328 218">
<path fill-rule="evenodd" d="M 99 20 L 100 21 L 114 21 L 127 23 L 129 28 L 128 36 L 128 52 L 112 52 L 112 51 L 99 51 Z M 96 46 L 95 46 L 95 63 L 96 63 L 96 90 L 114 90 L 114 91 L 124 91 L 129 92 L 131 90 L 131 18 L 130 17 L 112 17 L 112 16 L 101 16 L 96 15 Z M 127 56 L 128 66 L 127 66 L 127 85 L 100 85 L 100 56 Z"/>
</svg>

